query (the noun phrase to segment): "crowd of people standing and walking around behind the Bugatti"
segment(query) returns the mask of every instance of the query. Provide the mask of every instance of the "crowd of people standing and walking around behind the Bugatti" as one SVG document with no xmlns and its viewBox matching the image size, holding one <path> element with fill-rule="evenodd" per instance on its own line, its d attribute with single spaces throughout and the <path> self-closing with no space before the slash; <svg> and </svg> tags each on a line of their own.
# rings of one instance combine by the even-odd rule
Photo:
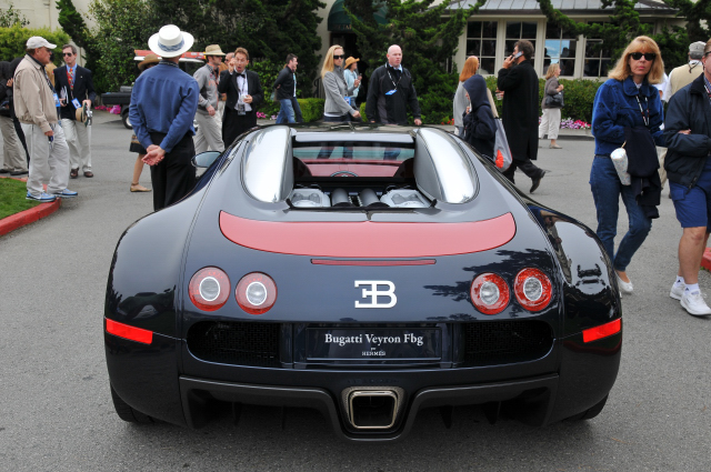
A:
<svg viewBox="0 0 711 472">
<path fill-rule="evenodd" d="M 192 44 L 192 36 L 178 27 L 161 28 L 149 40 L 153 54 L 139 64 L 141 74 L 131 93 L 129 117 L 134 137 L 130 150 L 138 153 L 131 191 L 150 191 L 139 184 L 142 167 L 149 164 L 154 210 L 189 193 L 196 184 L 192 157 L 207 150 L 223 151 L 257 124 L 257 109 L 264 101 L 260 77 L 248 69 L 250 56 L 244 48 L 224 53 L 218 44 L 208 46 L 207 63 L 191 77 L 178 63 Z M 27 42 L 24 58 L 0 63 L 2 172 L 20 175 L 29 170 L 27 198 L 42 202 L 76 197 L 77 192 L 67 189 L 69 179 L 80 173 L 93 177 L 90 110 L 96 93 L 91 72 L 77 64 L 77 49 L 64 44 L 66 66 L 50 77 L 46 67 L 54 48 L 33 37 Z M 517 41 L 497 80 L 497 98 L 503 100 L 502 128 L 513 138 L 508 142 L 512 163 L 503 175 L 513 183 L 515 169 L 521 170 L 531 179 L 531 193 L 545 175 L 532 162 L 539 141 L 548 135 L 549 148 L 561 149 L 557 139 L 564 89 L 559 82 L 560 66 L 552 63 L 539 101 L 533 51 L 530 41 Z M 670 198 L 683 228 L 679 271 L 670 297 L 693 315 L 711 314 L 698 283 L 711 233 L 711 160 L 707 159 L 711 155 L 710 53 L 711 40 L 694 42 L 689 62 L 667 78 L 658 44 L 638 37 L 628 44 L 592 103 L 590 188 L 597 234 L 612 261 L 618 284 L 623 293 L 633 291 L 627 268 L 649 234 L 652 220 L 659 218 L 661 189 L 669 180 Z M 413 79 L 402 67 L 402 49 L 392 44 L 385 63 L 372 72 L 365 103 L 368 122 L 408 124 L 409 109 L 414 124 L 421 124 Z M 362 121 L 354 100 L 362 81 L 358 61 L 347 58 L 339 44 L 328 50 L 321 69 L 323 121 Z M 278 123 L 302 121 L 297 68 L 298 57 L 288 54 L 271 86 L 273 99 L 280 103 Z M 455 134 L 493 160 L 501 127 L 492 93 L 478 69 L 479 59 L 470 57 L 459 77 L 453 101 Z M 663 101 L 668 102 L 665 117 Z M 543 109 L 540 123 L 539 103 Z M 659 157 L 657 147 L 663 149 Z M 615 251 L 620 200 L 629 230 Z"/>
</svg>

